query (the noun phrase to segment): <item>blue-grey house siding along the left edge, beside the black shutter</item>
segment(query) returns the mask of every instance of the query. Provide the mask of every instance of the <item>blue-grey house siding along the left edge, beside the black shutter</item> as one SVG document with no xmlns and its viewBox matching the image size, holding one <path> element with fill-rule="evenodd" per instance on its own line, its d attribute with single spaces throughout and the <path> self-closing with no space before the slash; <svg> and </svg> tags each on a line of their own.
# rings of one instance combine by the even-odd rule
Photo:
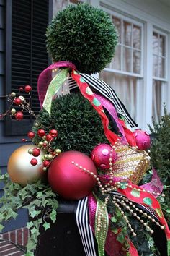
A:
<svg viewBox="0 0 170 256">
<path fill-rule="evenodd" d="M 5 111 L 6 81 L 5 81 L 5 58 L 6 58 L 6 2 L 0 0 L 0 114 Z M 23 145 L 21 142 L 22 136 L 6 136 L 5 122 L 0 120 L 0 170 L 6 173 L 6 166 L 9 156 L 12 152 Z M 0 196 L 3 194 L 3 184 L 0 183 Z M 24 226 L 27 221 L 25 210 L 19 210 L 19 216 L 16 221 L 9 221 L 6 224 L 4 232 L 17 229 Z"/>
</svg>

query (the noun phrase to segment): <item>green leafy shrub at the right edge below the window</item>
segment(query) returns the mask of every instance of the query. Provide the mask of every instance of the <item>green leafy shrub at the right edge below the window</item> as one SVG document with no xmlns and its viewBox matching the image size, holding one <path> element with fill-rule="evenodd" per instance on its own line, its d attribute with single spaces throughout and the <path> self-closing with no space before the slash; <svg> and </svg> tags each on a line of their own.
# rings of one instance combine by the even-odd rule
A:
<svg viewBox="0 0 170 256">
<path fill-rule="evenodd" d="M 161 207 L 164 210 L 166 220 L 170 224 L 170 114 L 164 106 L 164 116 L 153 127 L 149 126 L 153 135 L 151 143 L 151 166 L 156 168 L 158 176 L 161 178 L 166 197 L 161 198 Z"/>
</svg>

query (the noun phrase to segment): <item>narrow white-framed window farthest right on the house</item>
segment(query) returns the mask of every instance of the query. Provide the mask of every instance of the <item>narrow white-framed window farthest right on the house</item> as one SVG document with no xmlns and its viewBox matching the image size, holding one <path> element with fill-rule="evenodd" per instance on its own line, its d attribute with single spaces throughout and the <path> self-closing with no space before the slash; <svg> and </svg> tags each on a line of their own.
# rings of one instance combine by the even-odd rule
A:
<svg viewBox="0 0 170 256">
<path fill-rule="evenodd" d="M 153 119 L 157 122 L 164 114 L 167 95 L 167 35 L 153 30 Z"/>
</svg>

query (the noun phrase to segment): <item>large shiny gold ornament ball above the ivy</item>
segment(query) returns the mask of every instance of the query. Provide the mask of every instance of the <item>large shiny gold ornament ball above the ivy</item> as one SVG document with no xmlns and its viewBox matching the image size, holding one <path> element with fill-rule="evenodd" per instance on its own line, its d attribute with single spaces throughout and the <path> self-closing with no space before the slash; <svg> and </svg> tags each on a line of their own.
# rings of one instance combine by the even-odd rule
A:
<svg viewBox="0 0 170 256">
<path fill-rule="evenodd" d="M 32 155 L 28 153 L 28 150 L 33 148 L 35 148 L 35 145 L 24 145 L 17 148 L 9 157 L 7 166 L 9 178 L 12 182 L 18 183 L 22 187 L 26 186 L 28 183 L 32 184 L 37 182 L 37 180 L 44 175 L 44 171 L 42 170 L 42 158 L 44 153 L 42 150 L 40 155 L 36 158 L 37 165 L 32 166 L 30 163 Z"/>
</svg>

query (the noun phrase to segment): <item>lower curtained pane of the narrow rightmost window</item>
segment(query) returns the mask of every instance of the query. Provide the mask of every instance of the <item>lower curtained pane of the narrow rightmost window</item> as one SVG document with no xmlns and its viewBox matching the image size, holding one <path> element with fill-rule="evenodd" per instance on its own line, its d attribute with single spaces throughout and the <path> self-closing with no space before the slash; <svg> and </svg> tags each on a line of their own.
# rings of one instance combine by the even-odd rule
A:
<svg viewBox="0 0 170 256">
<path fill-rule="evenodd" d="M 153 80 L 153 119 L 159 121 L 161 116 L 161 82 Z"/>
</svg>

